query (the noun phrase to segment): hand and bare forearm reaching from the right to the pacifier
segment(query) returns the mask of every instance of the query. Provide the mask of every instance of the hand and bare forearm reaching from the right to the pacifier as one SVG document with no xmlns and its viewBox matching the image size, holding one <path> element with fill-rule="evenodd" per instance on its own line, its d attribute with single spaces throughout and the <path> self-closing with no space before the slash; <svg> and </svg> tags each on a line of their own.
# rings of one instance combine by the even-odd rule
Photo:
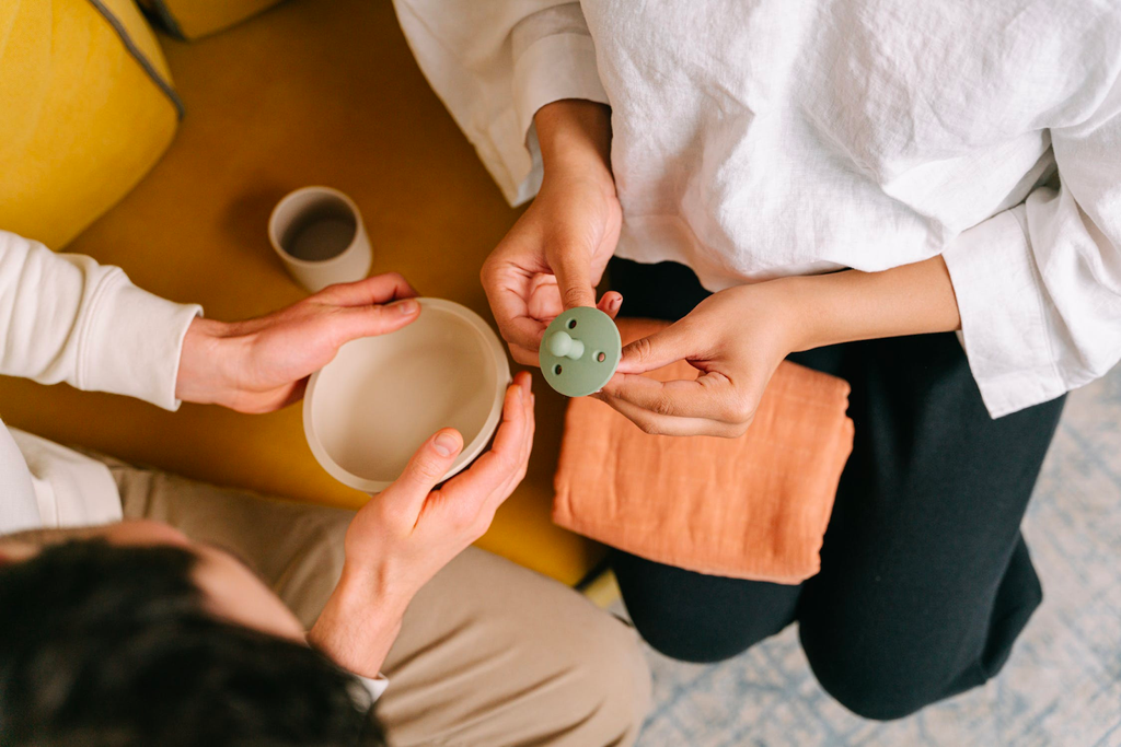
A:
<svg viewBox="0 0 1121 747">
<path fill-rule="evenodd" d="M 648 433 L 735 437 L 751 424 L 771 375 L 790 353 L 960 327 L 941 256 L 883 272 L 740 286 L 623 348 L 618 373 L 596 396 Z M 641 375 L 682 360 L 701 375 L 666 383 Z"/>
</svg>

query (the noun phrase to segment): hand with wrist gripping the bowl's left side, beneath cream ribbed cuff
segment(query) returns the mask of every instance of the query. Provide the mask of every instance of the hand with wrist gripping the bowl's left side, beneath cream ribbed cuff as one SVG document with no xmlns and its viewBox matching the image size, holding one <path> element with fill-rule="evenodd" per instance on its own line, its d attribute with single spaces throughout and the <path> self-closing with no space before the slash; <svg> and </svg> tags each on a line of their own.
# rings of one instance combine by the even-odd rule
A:
<svg viewBox="0 0 1121 747">
<path fill-rule="evenodd" d="M 271 412 L 299 400 L 307 377 L 359 337 L 416 320 L 417 292 L 397 273 L 331 286 L 249 321 L 195 319 L 179 357 L 175 395 L 241 412 Z"/>
</svg>

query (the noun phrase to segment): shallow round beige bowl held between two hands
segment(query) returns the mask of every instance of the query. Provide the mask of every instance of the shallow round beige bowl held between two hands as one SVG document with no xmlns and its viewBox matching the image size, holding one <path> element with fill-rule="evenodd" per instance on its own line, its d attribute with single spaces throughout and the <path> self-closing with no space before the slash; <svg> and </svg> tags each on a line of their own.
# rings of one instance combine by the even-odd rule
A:
<svg viewBox="0 0 1121 747">
<path fill-rule="evenodd" d="M 487 447 L 510 383 L 506 351 L 471 309 L 421 298 L 420 316 L 389 335 L 348 343 L 315 373 L 304 396 L 304 432 L 335 479 L 367 493 L 397 479 L 441 428 L 463 436 L 445 479 Z"/>
</svg>

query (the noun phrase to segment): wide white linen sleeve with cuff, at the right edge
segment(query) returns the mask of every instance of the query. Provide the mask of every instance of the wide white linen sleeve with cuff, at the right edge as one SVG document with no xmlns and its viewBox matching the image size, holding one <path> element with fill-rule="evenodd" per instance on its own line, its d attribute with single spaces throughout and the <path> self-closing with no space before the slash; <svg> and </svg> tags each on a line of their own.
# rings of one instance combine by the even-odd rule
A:
<svg viewBox="0 0 1121 747">
<path fill-rule="evenodd" d="M 944 252 L 970 367 L 994 418 L 1059 396 L 1121 360 L 1121 78 L 1051 128 L 1060 186 Z"/>
</svg>

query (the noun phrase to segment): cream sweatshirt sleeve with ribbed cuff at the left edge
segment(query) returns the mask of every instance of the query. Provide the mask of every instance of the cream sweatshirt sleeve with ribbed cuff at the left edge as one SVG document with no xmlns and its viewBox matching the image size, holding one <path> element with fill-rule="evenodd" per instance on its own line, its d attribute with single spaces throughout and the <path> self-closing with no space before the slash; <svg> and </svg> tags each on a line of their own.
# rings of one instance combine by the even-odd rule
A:
<svg viewBox="0 0 1121 747">
<path fill-rule="evenodd" d="M 120 268 L 0 231 L 0 374 L 175 410 L 183 337 L 201 312 L 137 288 Z"/>
</svg>

